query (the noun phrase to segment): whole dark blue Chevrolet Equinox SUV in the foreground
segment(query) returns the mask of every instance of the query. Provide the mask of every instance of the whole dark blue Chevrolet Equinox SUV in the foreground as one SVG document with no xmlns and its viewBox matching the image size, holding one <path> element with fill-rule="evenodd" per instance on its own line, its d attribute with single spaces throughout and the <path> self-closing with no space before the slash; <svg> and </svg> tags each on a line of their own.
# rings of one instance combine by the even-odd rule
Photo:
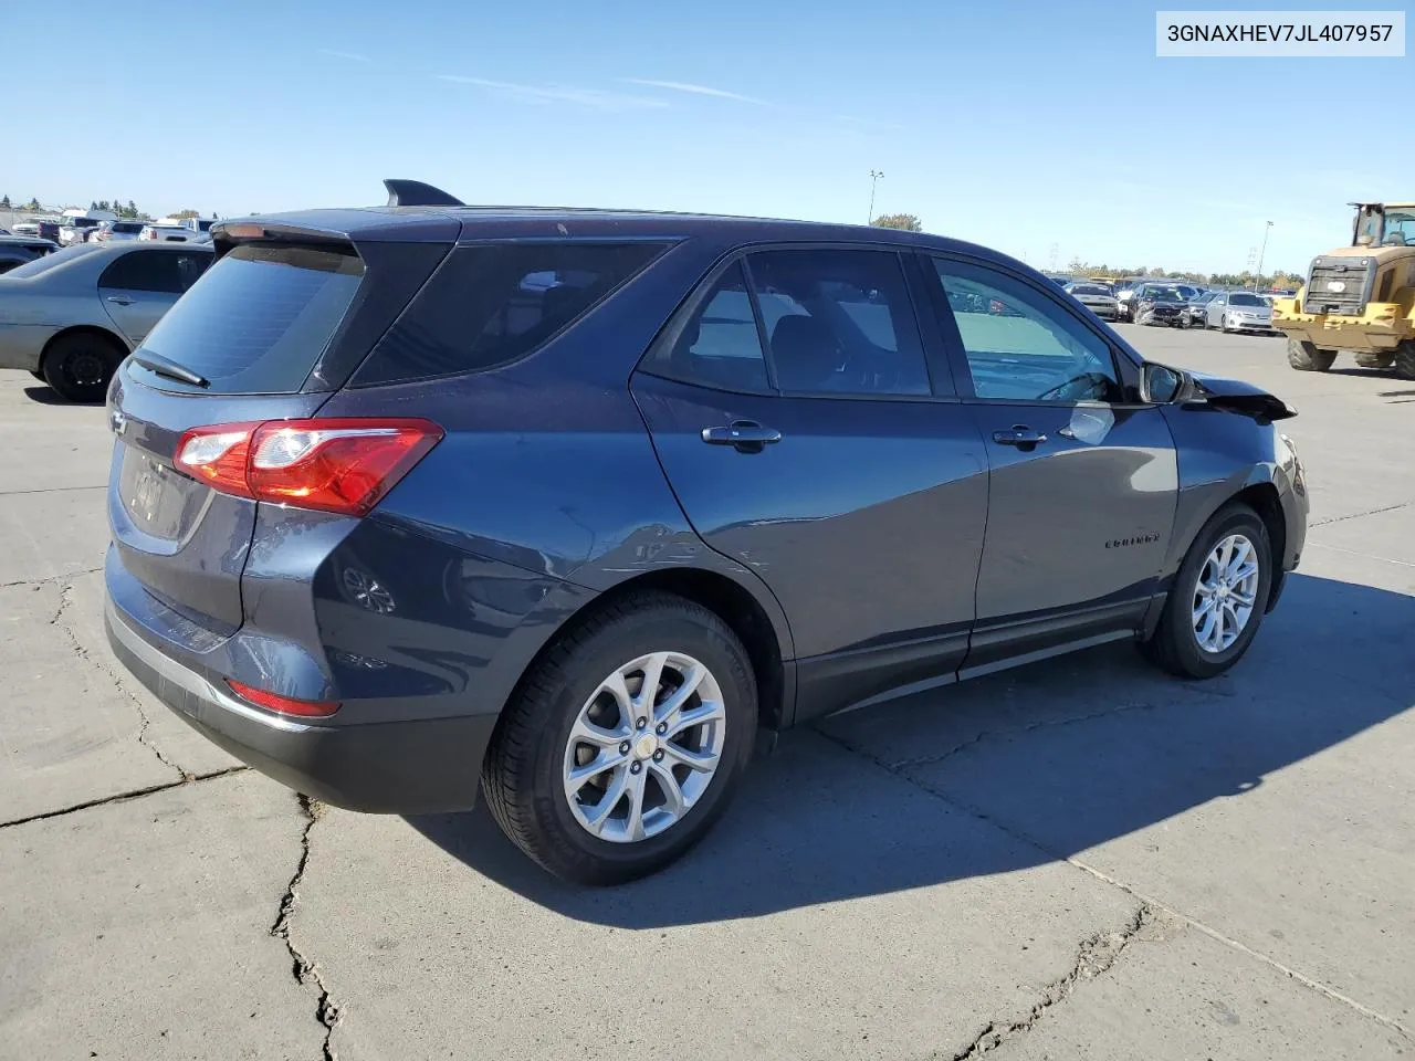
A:
<svg viewBox="0 0 1415 1061">
<path fill-rule="evenodd" d="M 117 656 L 313 798 L 480 787 L 543 867 L 623 881 L 758 726 L 1112 638 L 1208 678 L 1302 552 L 1292 410 L 1020 262 L 389 184 L 218 225 L 109 392 Z"/>
</svg>

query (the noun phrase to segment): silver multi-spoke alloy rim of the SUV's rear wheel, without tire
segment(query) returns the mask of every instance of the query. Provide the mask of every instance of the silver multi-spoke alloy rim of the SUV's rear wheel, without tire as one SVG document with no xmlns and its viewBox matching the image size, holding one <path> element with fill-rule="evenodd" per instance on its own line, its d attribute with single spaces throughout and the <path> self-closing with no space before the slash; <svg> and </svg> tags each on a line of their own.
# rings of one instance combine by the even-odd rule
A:
<svg viewBox="0 0 1415 1061">
<path fill-rule="evenodd" d="M 717 772 L 727 714 L 698 659 L 651 652 L 600 682 L 565 747 L 565 798 L 591 835 L 634 843 L 693 808 Z"/>
</svg>

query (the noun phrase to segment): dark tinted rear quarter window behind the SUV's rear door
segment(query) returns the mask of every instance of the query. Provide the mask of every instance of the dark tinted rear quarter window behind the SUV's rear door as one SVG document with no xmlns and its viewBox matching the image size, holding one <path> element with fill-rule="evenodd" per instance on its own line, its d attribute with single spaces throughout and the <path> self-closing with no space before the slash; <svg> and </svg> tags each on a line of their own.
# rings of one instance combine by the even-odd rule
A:
<svg viewBox="0 0 1415 1061">
<path fill-rule="evenodd" d="M 477 372 L 525 356 L 664 249 L 664 243 L 579 242 L 457 248 L 354 382 Z"/>
</svg>

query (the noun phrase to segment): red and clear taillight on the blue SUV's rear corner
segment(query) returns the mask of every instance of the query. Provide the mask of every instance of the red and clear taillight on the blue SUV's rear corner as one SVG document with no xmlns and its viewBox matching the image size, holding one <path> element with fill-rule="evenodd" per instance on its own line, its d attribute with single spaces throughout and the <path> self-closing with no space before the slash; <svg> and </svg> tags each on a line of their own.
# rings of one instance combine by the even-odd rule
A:
<svg viewBox="0 0 1415 1061">
<path fill-rule="evenodd" d="M 192 427 L 178 471 L 212 489 L 361 516 L 443 437 L 430 420 L 269 420 Z"/>
</svg>

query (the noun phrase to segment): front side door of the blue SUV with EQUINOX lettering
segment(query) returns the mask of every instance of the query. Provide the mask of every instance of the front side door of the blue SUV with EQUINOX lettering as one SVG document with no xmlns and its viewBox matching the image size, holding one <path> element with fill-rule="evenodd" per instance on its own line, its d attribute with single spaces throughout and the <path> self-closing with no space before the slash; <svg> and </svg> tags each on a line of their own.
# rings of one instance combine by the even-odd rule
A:
<svg viewBox="0 0 1415 1061">
<path fill-rule="evenodd" d="M 968 666 L 1135 630 L 1179 491 L 1163 416 L 1061 298 L 976 262 L 930 272 L 989 464 Z"/>
</svg>

